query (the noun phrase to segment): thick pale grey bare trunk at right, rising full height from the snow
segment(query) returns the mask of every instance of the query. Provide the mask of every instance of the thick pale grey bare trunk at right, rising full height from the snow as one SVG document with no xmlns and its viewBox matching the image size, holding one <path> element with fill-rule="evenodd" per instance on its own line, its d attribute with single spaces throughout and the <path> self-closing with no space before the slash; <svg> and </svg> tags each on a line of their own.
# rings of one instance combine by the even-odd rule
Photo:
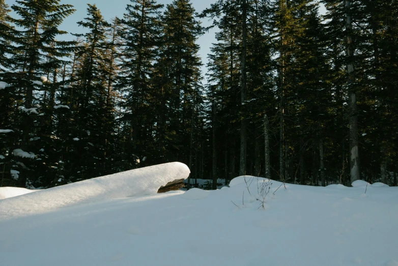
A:
<svg viewBox="0 0 398 266">
<path fill-rule="evenodd" d="M 351 168 L 351 183 L 360 180 L 359 168 L 359 146 L 358 146 L 358 114 L 357 114 L 357 99 L 353 88 L 355 83 L 354 73 L 354 47 L 352 40 L 352 20 L 351 20 L 351 0 L 346 0 L 346 32 L 347 32 L 347 85 L 348 94 L 350 96 L 350 111 L 349 111 L 349 125 L 350 125 L 350 168 Z"/>
</svg>

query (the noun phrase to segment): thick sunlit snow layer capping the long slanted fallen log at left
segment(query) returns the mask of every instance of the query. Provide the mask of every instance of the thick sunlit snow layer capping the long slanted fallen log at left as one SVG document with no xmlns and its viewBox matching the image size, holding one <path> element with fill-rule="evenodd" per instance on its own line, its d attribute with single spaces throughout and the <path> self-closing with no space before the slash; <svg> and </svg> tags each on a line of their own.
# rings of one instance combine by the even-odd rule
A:
<svg viewBox="0 0 398 266">
<path fill-rule="evenodd" d="M 143 167 L 0 201 L 0 220 L 47 213 L 103 199 L 156 194 L 160 186 L 186 179 L 189 168 L 179 162 Z"/>
</svg>

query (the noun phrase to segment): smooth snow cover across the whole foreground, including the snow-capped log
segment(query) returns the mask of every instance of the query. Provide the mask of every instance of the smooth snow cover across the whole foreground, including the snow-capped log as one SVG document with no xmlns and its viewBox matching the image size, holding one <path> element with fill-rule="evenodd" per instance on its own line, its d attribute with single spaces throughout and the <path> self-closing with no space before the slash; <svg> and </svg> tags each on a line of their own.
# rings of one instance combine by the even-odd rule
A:
<svg viewBox="0 0 398 266">
<path fill-rule="evenodd" d="M 0 200 L 0 265 L 398 265 L 396 187 L 377 184 L 364 194 L 364 182 L 287 184 L 273 194 L 280 185 L 273 181 L 263 210 L 255 178 L 251 195 L 243 178 L 217 191 L 141 189 L 189 172 L 179 163 L 166 168 L 132 170 L 131 184 L 126 173 L 108 176 L 106 193 L 83 201 L 75 199 L 102 181 Z M 62 204 L 43 211 L 54 200 Z"/>
</svg>

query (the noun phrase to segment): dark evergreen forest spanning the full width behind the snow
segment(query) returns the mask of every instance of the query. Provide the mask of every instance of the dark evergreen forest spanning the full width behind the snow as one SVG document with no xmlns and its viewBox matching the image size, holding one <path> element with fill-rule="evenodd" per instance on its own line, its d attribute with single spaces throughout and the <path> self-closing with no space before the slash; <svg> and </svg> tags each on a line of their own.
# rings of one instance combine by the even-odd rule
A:
<svg viewBox="0 0 398 266">
<path fill-rule="evenodd" d="M 131 0 L 60 41 L 60 1 L 0 0 L 2 186 L 181 161 L 190 178 L 396 185 L 397 1 Z M 377 7 L 377 8 L 375 8 Z M 201 73 L 197 38 L 218 29 Z M 206 85 L 203 79 L 206 78 Z M 215 187 L 216 182 L 213 184 Z"/>
</svg>

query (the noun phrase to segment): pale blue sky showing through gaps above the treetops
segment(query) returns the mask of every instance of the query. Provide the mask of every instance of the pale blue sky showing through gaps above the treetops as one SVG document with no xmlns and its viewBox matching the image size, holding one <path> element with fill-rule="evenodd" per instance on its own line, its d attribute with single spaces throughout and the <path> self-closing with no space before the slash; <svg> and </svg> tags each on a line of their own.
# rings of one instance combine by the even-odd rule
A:
<svg viewBox="0 0 398 266">
<path fill-rule="evenodd" d="M 193 7 L 196 12 L 202 12 L 205 8 L 210 7 L 210 4 L 214 3 L 216 0 L 191 0 Z M 6 4 L 9 6 L 15 4 L 15 0 L 6 0 Z M 109 21 L 110 18 L 118 16 L 122 17 L 126 10 L 126 6 L 130 3 L 130 0 L 61 0 L 62 4 L 71 4 L 76 9 L 76 12 L 65 19 L 61 26 L 61 29 L 69 33 L 84 33 L 82 27 L 78 27 L 76 22 L 82 20 L 86 17 L 87 4 L 96 4 L 101 10 L 104 18 Z M 158 0 L 159 4 L 170 4 L 172 0 Z M 322 13 L 322 12 L 321 12 Z M 208 20 L 202 20 L 204 26 L 210 25 Z M 201 46 L 199 51 L 203 64 L 207 63 L 207 54 L 210 53 L 211 44 L 215 42 L 214 39 L 215 29 L 201 36 L 197 43 Z M 72 36 L 70 37 L 72 39 Z M 206 73 L 205 66 L 203 67 L 203 74 Z"/>
</svg>

